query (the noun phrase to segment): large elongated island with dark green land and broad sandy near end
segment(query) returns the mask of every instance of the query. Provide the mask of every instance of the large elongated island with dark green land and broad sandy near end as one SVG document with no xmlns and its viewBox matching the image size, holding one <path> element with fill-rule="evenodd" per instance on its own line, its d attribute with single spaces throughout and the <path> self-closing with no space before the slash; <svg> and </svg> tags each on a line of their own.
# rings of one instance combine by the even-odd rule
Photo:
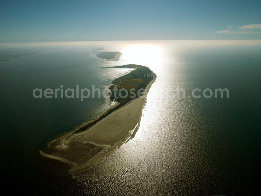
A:
<svg viewBox="0 0 261 196">
<path fill-rule="evenodd" d="M 88 124 L 59 136 L 40 151 L 47 158 L 60 160 L 71 166 L 70 174 L 77 174 L 97 165 L 135 136 L 146 103 L 146 94 L 156 79 L 155 73 L 141 65 L 104 68 L 133 69 L 111 82 L 110 99 L 115 103 Z M 132 94 L 120 92 L 119 89 L 132 89 Z"/>
</svg>

